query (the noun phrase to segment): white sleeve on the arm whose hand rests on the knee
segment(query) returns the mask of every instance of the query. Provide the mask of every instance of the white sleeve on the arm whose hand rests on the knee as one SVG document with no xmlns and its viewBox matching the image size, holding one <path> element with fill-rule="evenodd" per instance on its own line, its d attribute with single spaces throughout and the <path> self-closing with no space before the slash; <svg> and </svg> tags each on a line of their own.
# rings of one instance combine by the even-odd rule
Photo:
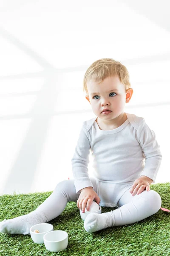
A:
<svg viewBox="0 0 170 256">
<path fill-rule="evenodd" d="M 142 151 L 144 152 L 145 165 L 141 175 L 147 176 L 155 183 L 157 172 L 161 165 L 161 151 L 156 141 L 154 131 L 145 123 L 144 119 L 136 131 L 136 140 L 138 140 Z"/>
</svg>

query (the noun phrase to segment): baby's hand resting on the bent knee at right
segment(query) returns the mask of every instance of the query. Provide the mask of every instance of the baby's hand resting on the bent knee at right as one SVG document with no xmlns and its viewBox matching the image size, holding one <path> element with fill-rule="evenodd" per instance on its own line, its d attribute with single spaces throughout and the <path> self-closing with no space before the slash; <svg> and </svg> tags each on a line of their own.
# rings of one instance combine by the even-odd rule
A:
<svg viewBox="0 0 170 256">
<path fill-rule="evenodd" d="M 149 191 L 152 181 L 153 180 L 147 176 L 141 176 L 139 179 L 134 181 L 133 186 L 130 189 L 130 193 L 134 196 L 136 194 L 139 195 L 144 189 Z"/>
</svg>

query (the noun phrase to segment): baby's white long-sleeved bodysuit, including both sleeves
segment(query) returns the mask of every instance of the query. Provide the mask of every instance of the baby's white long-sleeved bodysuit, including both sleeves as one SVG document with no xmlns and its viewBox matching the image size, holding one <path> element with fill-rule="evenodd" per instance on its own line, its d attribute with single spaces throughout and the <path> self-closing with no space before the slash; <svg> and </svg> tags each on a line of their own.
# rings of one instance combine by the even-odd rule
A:
<svg viewBox="0 0 170 256">
<path fill-rule="evenodd" d="M 126 115 L 127 120 L 121 126 L 108 131 L 99 129 L 96 117 L 83 122 L 72 158 L 74 185 L 79 194 L 80 189 L 93 187 L 88 176 L 91 151 L 101 206 L 115 207 L 141 175 L 151 178 L 154 183 L 161 164 L 155 133 L 144 118 L 130 113 Z"/>
</svg>

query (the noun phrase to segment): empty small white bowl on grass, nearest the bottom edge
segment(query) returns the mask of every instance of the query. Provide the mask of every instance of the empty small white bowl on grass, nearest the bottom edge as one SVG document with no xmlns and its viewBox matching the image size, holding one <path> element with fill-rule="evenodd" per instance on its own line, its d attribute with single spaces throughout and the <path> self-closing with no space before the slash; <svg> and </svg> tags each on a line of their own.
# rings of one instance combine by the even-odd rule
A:
<svg viewBox="0 0 170 256">
<path fill-rule="evenodd" d="M 51 252 L 65 250 L 68 246 L 68 233 L 62 230 L 51 231 L 44 236 L 45 248 Z"/>
</svg>

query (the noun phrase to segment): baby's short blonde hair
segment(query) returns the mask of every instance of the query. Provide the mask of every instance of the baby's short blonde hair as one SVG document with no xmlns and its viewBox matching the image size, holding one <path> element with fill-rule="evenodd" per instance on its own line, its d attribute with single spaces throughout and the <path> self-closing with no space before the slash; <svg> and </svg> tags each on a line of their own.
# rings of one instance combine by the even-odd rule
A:
<svg viewBox="0 0 170 256">
<path fill-rule="evenodd" d="M 94 61 L 88 70 L 85 72 L 83 79 L 83 92 L 88 94 L 87 82 L 93 80 L 96 82 L 102 82 L 108 76 L 118 75 L 122 84 L 128 89 L 131 87 L 129 82 L 129 73 L 127 68 L 119 61 L 115 61 L 112 58 L 102 58 Z"/>
</svg>

